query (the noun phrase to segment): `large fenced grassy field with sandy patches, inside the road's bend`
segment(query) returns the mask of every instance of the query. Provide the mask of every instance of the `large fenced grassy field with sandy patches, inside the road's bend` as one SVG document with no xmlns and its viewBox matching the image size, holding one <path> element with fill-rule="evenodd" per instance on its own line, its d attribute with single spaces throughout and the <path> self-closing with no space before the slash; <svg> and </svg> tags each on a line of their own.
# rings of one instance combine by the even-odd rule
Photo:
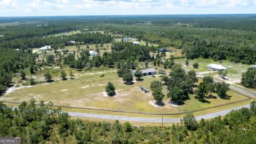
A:
<svg viewBox="0 0 256 144">
<path fill-rule="evenodd" d="M 230 91 L 228 92 L 229 99 L 217 97 L 216 99 L 206 99 L 204 102 L 198 101 L 194 98 L 194 95 L 190 95 L 190 99 L 185 101 L 184 105 L 178 107 L 167 103 L 169 98 L 165 97 L 163 100 L 165 106 L 156 107 L 152 102 L 150 103 L 150 101 L 153 101 L 153 96 L 149 86 L 152 81 L 160 80 L 160 77 L 146 76 L 143 77 L 144 81 L 135 82 L 133 85 L 125 85 L 122 78 L 117 77 L 116 71 L 105 70 L 103 74 L 105 76 L 100 77 L 102 74 L 91 73 L 79 79 L 26 87 L 3 95 L 2 100 L 22 102 L 35 98 L 38 102 L 41 100 L 45 102 L 52 101 L 55 105 L 62 106 L 150 113 L 178 113 L 245 99 L 242 95 Z M 105 86 L 108 82 L 114 83 L 117 96 L 107 97 Z M 140 86 L 146 87 L 150 92 L 145 94 L 140 90 Z M 166 94 L 165 90 L 163 92 Z"/>
</svg>

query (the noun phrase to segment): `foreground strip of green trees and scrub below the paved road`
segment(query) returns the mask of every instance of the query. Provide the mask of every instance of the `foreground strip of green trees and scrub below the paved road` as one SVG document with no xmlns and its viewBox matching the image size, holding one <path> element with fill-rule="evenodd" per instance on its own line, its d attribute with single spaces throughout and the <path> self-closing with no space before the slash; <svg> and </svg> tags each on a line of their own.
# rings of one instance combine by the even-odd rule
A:
<svg viewBox="0 0 256 144">
<path fill-rule="evenodd" d="M 0 101 L 0 137 L 21 137 L 22 143 L 254 143 L 256 102 L 250 109 L 233 110 L 225 117 L 197 122 L 188 114 L 166 127 L 133 126 L 71 119 L 53 103 L 34 99 L 17 108 Z"/>
</svg>

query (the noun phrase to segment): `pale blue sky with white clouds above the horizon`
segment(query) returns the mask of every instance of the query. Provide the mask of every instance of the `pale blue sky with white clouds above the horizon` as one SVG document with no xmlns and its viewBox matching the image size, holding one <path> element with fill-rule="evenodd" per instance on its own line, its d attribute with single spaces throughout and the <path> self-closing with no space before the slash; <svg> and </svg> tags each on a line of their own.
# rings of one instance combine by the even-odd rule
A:
<svg viewBox="0 0 256 144">
<path fill-rule="evenodd" d="M 256 0 L 0 0 L 0 17 L 256 13 Z"/>
</svg>

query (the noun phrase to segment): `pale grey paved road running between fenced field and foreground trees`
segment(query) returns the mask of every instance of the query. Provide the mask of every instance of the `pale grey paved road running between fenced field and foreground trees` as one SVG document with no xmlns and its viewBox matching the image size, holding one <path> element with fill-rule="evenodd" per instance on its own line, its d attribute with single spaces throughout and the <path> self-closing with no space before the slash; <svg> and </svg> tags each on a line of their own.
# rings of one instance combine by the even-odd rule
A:
<svg viewBox="0 0 256 144">
<path fill-rule="evenodd" d="M 222 111 L 218 111 L 216 113 L 196 116 L 197 120 L 202 118 L 208 119 L 217 116 L 223 116 L 228 114 L 231 110 L 241 109 L 243 107 L 249 108 L 250 105 L 239 106 L 235 108 L 230 108 Z M 77 116 L 77 117 L 87 117 L 87 118 L 98 118 L 98 119 L 111 119 L 111 120 L 118 120 L 118 121 L 130 121 L 130 122 L 146 122 L 146 123 L 162 123 L 162 116 L 160 118 L 145 118 L 145 117 L 128 117 L 128 116 L 116 116 L 116 115 L 101 115 L 101 114 L 90 114 L 90 113 L 75 113 L 75 112 L 68 112 L 70 116 Z M 163 118 L 164 123 L 178 123 L 180 122 L 181 118 Z"/>
</svg>

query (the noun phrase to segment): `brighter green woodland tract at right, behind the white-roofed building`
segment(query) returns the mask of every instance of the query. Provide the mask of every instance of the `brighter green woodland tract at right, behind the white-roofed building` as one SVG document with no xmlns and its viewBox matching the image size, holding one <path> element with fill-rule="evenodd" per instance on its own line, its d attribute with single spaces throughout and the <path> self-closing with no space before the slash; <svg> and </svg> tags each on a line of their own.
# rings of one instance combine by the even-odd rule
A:
<svg viewBox="0 0 256 144">
<path fill-rule="evenodd" d="M 163 47 L 182 49 L 188 59 L 228 59 L 253 64 L 256 34 L 252 31 L 181 26 L 106 26 L 111 33 L 135 37 Z"/>
</svg>

